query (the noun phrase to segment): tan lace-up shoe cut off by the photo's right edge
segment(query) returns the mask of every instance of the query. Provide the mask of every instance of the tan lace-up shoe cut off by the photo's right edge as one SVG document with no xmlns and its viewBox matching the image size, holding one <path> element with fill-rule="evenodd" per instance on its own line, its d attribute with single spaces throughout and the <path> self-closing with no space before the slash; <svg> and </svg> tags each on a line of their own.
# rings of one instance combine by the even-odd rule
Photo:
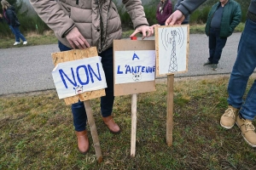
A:
<svg viewBox="0 0 256 170">
<path fill-rule="evenodd" d="M 237 116 L 236 125 L 240 128 L 241 135 L 247 144 L 250 144 L 252 147 L 256 147 L 256 133 L 254 131 L 255 127 L 253 126 L 253 122 Z"/>
</svg>

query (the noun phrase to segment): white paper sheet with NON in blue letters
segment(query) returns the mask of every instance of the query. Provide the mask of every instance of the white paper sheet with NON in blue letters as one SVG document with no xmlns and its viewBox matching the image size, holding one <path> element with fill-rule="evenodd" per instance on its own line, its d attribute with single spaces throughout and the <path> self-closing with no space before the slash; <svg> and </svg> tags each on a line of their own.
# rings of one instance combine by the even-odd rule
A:
<svg viewBox="0 0 256 170">
<path fill-rule="evenodd" d="M 59 99 L 107 88 L 101 57 L 59 63 L 52 71 Z"/>
</svg>

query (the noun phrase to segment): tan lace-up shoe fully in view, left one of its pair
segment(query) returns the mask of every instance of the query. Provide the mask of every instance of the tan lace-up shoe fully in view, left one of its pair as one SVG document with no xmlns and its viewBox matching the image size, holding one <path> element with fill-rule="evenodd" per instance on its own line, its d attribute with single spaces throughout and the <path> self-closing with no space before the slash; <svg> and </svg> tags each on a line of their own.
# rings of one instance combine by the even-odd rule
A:
<svg viewBox="0 0 256 170">
<path fill-rule="evenodd" d="M 223 116 L 220 118 L 220 126 L 230 129 L 235 125 L 236 116 L 238 114 L 239 109 L 232 107 L 229 105 L 229 108 L 224 112 Z"/>
</svg>

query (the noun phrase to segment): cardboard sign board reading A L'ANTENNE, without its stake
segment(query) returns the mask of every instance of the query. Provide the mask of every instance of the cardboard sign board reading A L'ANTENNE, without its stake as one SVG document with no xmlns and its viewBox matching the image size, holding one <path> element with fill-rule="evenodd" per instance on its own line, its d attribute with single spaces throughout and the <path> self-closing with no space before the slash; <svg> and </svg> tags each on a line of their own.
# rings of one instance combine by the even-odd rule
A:
<svg viewBox="0 0 256 170">
<path fill-rule="evenodd" d="M 154 40 L 113 41 L 114 96 L 155 91 L 154 49 Z M 124 57 L 127 59 L 122 61 Z"/>
</svg>

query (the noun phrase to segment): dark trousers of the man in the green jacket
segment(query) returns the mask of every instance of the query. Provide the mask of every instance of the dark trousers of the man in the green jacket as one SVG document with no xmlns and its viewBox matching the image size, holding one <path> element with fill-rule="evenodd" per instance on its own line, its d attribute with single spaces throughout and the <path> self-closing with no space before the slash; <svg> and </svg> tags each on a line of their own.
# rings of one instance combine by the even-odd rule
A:
<svg viewBox="0 0 256 170">
<path fill-rule="evenodd" d="M 208 60 L 212 62 L 212 64 L 218 64 L 218 60 L 220 59 L 222 49 L 224 48 L 227 38 L 219 37 L 219 29 L 210 28 L 209 34 L 209 52 L 210 57 Z"/>
</svg>

